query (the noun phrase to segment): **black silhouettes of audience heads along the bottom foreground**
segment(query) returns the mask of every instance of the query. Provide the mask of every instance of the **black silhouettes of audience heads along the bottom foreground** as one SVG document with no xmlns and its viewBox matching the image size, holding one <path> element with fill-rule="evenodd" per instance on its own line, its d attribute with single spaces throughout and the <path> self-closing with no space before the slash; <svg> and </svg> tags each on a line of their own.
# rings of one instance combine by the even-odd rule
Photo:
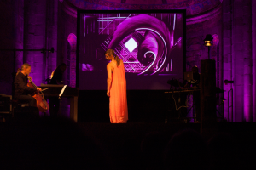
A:
<svg viewBox="0 0 256 170">
<path fill-rule="evenodd" d="M 216 133 L 205 141 L 192 129 L 172 136 L 152 131 L 142 138 L 130 132 L 112 134 L 116 138 L 111 145 L 64 117 L 1 122 L 0 126 L 1 169 L 211 170 L 240 169 L 245 163 L 240 160 L 236 140 L 228 133 Z"/>
</svg>

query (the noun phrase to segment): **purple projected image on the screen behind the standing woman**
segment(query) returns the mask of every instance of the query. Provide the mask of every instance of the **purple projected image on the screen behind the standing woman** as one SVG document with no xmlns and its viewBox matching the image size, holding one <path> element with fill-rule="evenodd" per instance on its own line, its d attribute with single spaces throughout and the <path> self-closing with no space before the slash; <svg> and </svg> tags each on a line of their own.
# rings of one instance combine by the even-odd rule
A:
<svg viewBox="0 0 256 170">
<path fill-rule="evenodd" d="M 124 61 L 127 89 L 168 89 L 183 77 L 183 13 L 106 13 L 80 14 L 80 89 L 106 88 L 108 48 Z"/>
</svg>

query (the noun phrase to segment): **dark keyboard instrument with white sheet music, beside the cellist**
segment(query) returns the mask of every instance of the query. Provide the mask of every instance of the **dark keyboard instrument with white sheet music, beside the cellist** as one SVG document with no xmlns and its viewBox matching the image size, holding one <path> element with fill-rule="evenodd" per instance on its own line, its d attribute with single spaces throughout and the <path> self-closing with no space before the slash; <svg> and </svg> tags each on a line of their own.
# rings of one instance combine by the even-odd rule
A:
<svg viewBox="0 0 256 170">
<path fill-rule="evenodd" d="M 79 88 L 71 88 L 67 85 L 41 84 L 44 97 L 59 97 L 70 99 L 70 118 L 78 122 L 78 98 Z"/>
</svg>

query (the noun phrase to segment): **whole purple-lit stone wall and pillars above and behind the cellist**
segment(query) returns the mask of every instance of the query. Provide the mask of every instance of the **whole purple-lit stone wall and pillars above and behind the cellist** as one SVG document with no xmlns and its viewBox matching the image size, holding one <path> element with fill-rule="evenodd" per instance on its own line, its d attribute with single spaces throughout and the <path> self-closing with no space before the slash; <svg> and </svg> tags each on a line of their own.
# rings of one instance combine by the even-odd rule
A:
<svg viewBox="0 0 256 170">
<path fill-rule="evenodd" d="M 32 81 L 37 85 L 56 67 L 58 0 L 1 1 L 0 93 L 12 93 L 12 72 L 23 63 L 32 65 Z M 55 53 L 41 49 L 55 48 Z M 7 51 L 7 49 L 12 49 Z M 17 49 L 14 53 L 13 49 Z M 38 51 L 18 51 L 37 50 Z"/>
</svg>

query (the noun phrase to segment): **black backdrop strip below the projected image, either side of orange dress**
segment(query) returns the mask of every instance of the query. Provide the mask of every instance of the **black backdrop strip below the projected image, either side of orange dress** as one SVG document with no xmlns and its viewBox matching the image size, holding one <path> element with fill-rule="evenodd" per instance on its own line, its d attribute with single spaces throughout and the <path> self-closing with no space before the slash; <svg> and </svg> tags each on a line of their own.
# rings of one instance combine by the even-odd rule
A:
<svg viewBox="0 0 256 170">
<path fill-rule="evenodd" d="M 186 108 L 175 111 L 166 90 L 127 90 L 128 122 L 182 122 Z M 185 104 L 183 104 L 185 105 Z M 168 108 L 167 108 L 168 107 Z M 109 122 L 106 90 L 79 90 L 78 122 Z"/>
</svg>

